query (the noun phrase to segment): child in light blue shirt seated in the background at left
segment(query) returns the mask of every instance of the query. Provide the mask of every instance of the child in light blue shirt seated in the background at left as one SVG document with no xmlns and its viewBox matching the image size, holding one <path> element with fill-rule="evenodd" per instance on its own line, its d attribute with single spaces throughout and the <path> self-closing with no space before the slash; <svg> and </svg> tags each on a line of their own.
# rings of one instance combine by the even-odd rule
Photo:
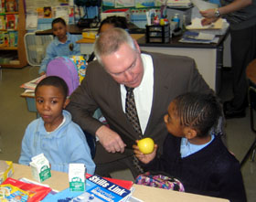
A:
<svg viewBox="0 0 256 202">
<path fill-rule="evenodd" d="M 80 55 L 80 45 L 76 42 L 78 37 L 67 32 L 67 24 L 64 19 L 58 17 L 51 23 L 54 40 L 48 45 L 46 57 L 42 60 L 39 74 L 43 75 L 47 71 L 48 62 L 58 56 Z"/>
</svg>

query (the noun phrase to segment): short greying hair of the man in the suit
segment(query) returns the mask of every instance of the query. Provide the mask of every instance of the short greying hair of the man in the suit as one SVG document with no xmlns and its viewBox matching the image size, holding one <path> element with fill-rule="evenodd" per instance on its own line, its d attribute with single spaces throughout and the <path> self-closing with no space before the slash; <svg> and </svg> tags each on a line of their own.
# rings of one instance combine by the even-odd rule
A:
<svg viewBox="0 0 256 202">
<path fill-rule="evenodd" d="M 101 63 L 101 57 L 116 52 L 121 45 L 127 43 L 131 48 L 136 50 L 131 37 L 123 28 L 112 28 L 104 31 L 96 39 L 94 44 L 94 54 Z M 102 65 L 102 63 L 101 63 Z"/>
</svg>

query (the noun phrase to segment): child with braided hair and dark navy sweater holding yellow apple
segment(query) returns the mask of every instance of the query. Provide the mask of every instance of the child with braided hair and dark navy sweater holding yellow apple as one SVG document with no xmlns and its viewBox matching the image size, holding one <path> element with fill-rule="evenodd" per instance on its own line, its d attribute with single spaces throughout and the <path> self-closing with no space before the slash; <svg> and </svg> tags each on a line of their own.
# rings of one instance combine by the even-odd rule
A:
<svg viewBox="0 0 256 202">
<path fill-rule="evenodd" d="M 189 92 L 172 101 L 165 115 L 163 154 L 134 154 L 145 170 L 164 171 L 181 181 L 185 191 L 230 201 L 246 201 L 240 163 L 220 139 L 222 108 L 214 95 Z"/>
</svg>

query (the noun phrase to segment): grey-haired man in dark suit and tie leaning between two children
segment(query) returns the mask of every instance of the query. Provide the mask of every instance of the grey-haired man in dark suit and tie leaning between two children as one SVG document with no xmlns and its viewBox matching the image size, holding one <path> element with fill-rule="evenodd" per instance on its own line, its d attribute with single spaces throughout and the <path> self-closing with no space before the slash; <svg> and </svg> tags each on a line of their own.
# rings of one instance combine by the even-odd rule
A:
<svg viewBox="0 0 256 202">
<path fill-rule="evenodd" d="M 160 154 L 167 130 L 164 115 L 170 101 L 187 91 L 211 91 L 191 58 L 142 54 L 136 41 L 120 28 L 103 32 L 95 42 L 97 61 L 91 62 L 85 80 L 73 92 L 68 110 L 83 130 L 96 134 L 96 174 L 129 167 L 133 176 L 132 145 L 140 135 L 152 137 Z M 134 99 L 142 133 L 137 133 L 125 113 L 126 87 Z M 110 125 L 91 116 L 100 108 Z"/>
</svg>

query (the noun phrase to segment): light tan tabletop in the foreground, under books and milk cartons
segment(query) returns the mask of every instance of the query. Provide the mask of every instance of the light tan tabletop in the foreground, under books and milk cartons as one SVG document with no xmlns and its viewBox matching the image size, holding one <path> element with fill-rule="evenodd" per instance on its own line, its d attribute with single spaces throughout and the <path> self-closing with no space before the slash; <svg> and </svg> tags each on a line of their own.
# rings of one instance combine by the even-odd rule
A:
<svg viewBox="0 0 256 202">
<path fill-rule="evenodd" d="M 14 175 L 13 178 L 19 179 L 26 177 L 27 179 L 34 180 L 31 175 L 30 167 L 27 165 L 14 164 Z M 43 184 L 50 186 L 56 190 L 63 190 L 69 187 L 68 174 L 51 171 L 51 177 L 48 178 Z M 189 201 L 189 202 L 227 202 L 229 200 L 217 198 L 217 197 L 205 197 L 194 194 L 176 192 L 161 188 L 155 188 L 150 186 L 139 186 L 133 185 L 134 192 L 133 197 L 137 197 L 146 202 L 167 202 L 167 201 Z"/>
</svg>

